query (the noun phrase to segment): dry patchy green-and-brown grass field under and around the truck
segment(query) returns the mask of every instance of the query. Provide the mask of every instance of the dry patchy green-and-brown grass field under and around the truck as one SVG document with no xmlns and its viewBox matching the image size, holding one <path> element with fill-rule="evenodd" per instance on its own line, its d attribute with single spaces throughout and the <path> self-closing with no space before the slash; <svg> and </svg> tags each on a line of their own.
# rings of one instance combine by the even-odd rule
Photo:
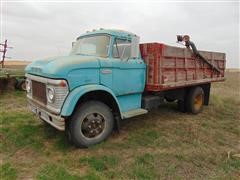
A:
<svg viewBox="0 0 240 180">
<path fill-rule="evenodd" d="M 175 103 L 124 120 L 102 144 L 71 146 L 27 109 L 25 94 L 0 98 L 3 179 L 239 179 L 240 73 L 214 83 L 199 115 Z"/>
</svg>

